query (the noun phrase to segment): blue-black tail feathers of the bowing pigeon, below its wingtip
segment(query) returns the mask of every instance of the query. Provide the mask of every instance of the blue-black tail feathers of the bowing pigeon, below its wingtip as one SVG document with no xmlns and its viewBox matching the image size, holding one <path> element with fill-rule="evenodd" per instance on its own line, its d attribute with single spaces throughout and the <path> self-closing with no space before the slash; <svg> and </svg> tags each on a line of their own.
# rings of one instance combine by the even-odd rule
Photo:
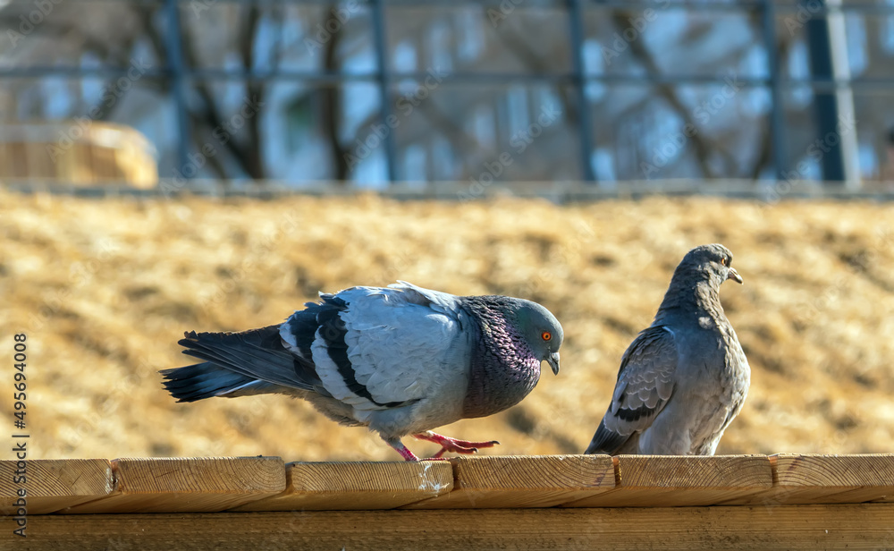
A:
<svg viewBox="0 0 894 551">
<path fill-rule="evenodd" d="M 164 388 L 178 402 L 196 402 L 215 396 L 233 398 L 249 394 L 290 393 L 285 386 L 274 385 L 240 375 L 210 361 L 184 368 L 164 369 Z"/>
</svg>

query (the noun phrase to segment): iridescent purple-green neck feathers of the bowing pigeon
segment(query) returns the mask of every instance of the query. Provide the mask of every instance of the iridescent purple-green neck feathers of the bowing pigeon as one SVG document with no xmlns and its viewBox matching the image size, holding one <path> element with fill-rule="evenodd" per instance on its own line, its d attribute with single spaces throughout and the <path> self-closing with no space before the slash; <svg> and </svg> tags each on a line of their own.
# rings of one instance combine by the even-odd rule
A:
<svg viewBox="0 0 894 551">
<path fill-rule="evenodd" d="M 521 402 L 540 380 L 540 362 L 502 297 L 465 297 L 474 327 L 463 418 L 485 417 Z"/>
</svg>

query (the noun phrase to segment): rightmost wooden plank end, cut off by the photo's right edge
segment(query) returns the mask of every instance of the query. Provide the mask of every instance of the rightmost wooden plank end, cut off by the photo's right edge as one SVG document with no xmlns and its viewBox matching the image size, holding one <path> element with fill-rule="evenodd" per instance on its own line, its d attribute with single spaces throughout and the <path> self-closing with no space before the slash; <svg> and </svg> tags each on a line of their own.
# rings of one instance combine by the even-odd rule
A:
<svg viewBox="0 0 894 551">
<path fill-rule="evenodd" d="M 773 487 L 724 504 L 835 504 L 894 499 L 894 454 L 775 454 Z"/>
</svg>

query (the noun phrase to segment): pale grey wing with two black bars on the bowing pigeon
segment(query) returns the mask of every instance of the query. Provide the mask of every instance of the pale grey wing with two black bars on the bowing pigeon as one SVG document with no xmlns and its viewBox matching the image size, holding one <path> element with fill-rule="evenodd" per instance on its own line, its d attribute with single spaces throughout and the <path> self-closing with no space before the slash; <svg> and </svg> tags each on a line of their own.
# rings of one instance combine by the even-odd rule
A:
<svg viewBox="0 0 894 551">
<path fill-rule="evenodd" d="M 293 352 L 309 355 L 325 390 L 342 403 L 401 407 L 468 377 L 468 336 L 452 295 L 401 283 L 320 296 L 312 340 L 302 329 L 308 310 L 280 333 Z"/>
</svg>

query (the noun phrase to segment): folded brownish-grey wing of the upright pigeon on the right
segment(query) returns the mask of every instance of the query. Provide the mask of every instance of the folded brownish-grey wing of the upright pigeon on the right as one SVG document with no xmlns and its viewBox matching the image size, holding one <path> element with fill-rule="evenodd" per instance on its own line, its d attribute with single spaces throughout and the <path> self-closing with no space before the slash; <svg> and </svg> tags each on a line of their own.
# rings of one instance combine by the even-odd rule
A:
<svg viewBox="0 0 894 551">
<path fill-rule="evenodd" d="M 651 326 L 637 335 L 621 359 L 611 405 L 587 454 L 613 454 L 635 432 L 652 425 L 673 394 L 678 357 L 670 328 Z"/>
</svg>

